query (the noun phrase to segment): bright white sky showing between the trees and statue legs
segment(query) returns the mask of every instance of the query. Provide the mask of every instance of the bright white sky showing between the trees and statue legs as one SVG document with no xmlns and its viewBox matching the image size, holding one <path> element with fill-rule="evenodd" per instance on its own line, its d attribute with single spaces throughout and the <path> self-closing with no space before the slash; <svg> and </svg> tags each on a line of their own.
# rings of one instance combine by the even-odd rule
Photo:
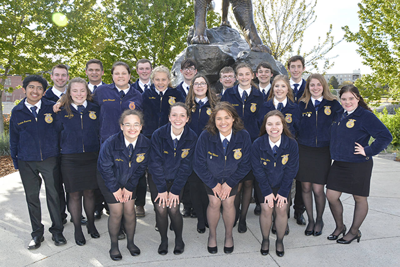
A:
<svg viewBox="0 0 400 267">
<path fill-rule="evenodd" d="M 221 1 L 214 0 L 215 11 L 221 12 Z M 306 0 L 310 2 L 310 0 Z M 344 31 L 342 26 L 347 25 L 352 32 L 358 30 L 360 21 L 358 19 L 357 11 L 358 0 L 336 0 L 326 1 L 318 0 L 315 8 L 316 21 L 306 29 L 304 32 L 304 50 L 311 49 L 314 42 L 318 41 L 318 35 L 324 38 L 326 32 L 329 30 L 329 25 L 332 24 L 332 36 L 335 42 L 342 39 Z M 231 23 L 232 25 L 232 23 Z M 317 34 L 315 34 L 317 33 Z M 335 64 L 326 73 L 353 73 L 353 70 L 360 69 L 361 74 L 371 73 L 371 69 L 362 64 L 362 58 L 356 52 L 358 45 L 356 43 L 349 43 L 342 40 L 336 45 L 326 56 L 338 57 L 332 59 Z M 322 64 L 320 65 L 322 67 Z"/>
</svg>

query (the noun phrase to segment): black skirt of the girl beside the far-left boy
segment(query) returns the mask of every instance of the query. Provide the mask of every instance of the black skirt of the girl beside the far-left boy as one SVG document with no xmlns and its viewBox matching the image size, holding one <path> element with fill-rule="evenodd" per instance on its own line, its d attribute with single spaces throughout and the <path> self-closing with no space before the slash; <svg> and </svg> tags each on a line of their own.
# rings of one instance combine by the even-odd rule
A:
<svg viewBox="0 0 400 267">
<path fill-rule="evenodd" d="M 96 189 L 97 152 L 61 154 L 61 172 L 68 193 Z"/>
</svg>

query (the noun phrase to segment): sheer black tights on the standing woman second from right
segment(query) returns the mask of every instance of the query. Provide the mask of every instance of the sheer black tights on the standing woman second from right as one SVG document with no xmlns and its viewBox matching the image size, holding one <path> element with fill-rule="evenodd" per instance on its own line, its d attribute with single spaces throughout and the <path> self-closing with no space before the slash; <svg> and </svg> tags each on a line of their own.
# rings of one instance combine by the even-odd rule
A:
<svg viewBox="0 0 400 267">
<path fill-rule="evenodd" d="M 324 214 L 326 197 L 324 192 L 323 184 L 314 184 L 310 182 L 302 182 L 302 197 L 304 206 L 306 206 L 306 212 L 308 216 L 308 225 L 306 230 L 319 232 L 322 230 L 322 214 Z M 317 211 L 316 221 L 314 221 L 314 216 L 312 212 L 312 193 L 314 192 L 315 198 L 315 208 Z"/>
</svg>

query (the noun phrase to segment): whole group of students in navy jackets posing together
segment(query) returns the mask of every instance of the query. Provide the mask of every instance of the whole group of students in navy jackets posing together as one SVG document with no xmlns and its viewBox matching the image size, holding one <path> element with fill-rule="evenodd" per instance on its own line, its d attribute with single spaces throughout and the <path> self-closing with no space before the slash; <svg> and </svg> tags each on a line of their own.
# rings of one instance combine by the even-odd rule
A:
<svg viewBox="0 0 400 267">
<path fill-rule="evenodd" d="M 89 83 L 78 77 L 65 89 L 68 69 L 62 66 L 52 70 L 56 90 L 46 91 L 47 81 L 39 75 L 24 79 L 26 98 L 14 107 L 10 119 L 11 156 L 20 171 L 32 224 L 28 249 L 40 247 L 44 240 L 38 198 L 42 178 L 55 245 L 66 243 L 62 184 L 78 245 L 86 243 L 81 228 L 82 196 L 88 234 L 100 237 L 94 217 L 96 190 L 101 192 L 110 215 L 113 260 L 122 259 L 118 239 L 125 235 L 131 255 L 140 254 L 134 243 L 135 202 L 144 198 L 147 184 L 161 255 L 168 253 L 168 216 L 175 233 L 174 254 L 184 251 L 180 213 L 184 188 L 189 189 L 197 215 L 197 231 L 204 233 L 209 228 L 209 253 L 218 251 L 216 228 L 221 209 L 224 253 L 232 253 L 232 229 L 239 220 L 238 231 L 246 232 L 254 188 L 260 208 L 260 253 L 269 253 L 272 232 L 277 237 L 276 254 L 283 256 L 294 179 L 297 222 L 303 224 L 303 202 L 308 215 L 305 235 L 322 234 L 328 198 L 336 223 L 328 239 L 360 241 L 359 228 L 368 212 L 372 156 L 392 136 L 354 85 L 342 87 L 340 105 L 322 75 L 312 74 L 307 81 L 301 78 L 304 59 L 300 56 L 288 61 L 291 78 L 276 75 L 272 84 L 273 71 L 266 62 L 257 66 L 258 86 L 249 65 L 240 63 L 235 71 L 225 67 L 220 71 L 223 89 L 219 95 L 197 73 L 192 59 L 182 62 L 184 81 L 177 88 L 172 88 L 166 67 L 152 69 L 147 59 L 136 64 L 140 78 L 133 84 L 130 67 L 120 61 L 111 68 L 113 83 L 103 84 L 101 61 L 92 59 L 86 64 Z M 59 99 L 46 99 L 54 96 Z M 368 144 L 370 136 L 375 138 L 372 144 Z M 347 233 L 342 192 L 352 194 L 356 202 Z M 296 202 L 301 206 L 298 210 Z"/>
</svg>

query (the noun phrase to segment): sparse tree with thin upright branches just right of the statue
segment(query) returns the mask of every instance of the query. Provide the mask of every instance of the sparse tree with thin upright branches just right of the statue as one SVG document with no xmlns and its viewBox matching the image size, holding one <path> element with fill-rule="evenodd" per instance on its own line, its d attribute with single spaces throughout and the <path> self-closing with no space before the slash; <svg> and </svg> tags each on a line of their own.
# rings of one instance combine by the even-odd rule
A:
<svg viewBox="0 0 400 267">
<path fill-rule="evenodd" d="M 325 37 L 318 37 L 318 44 L 310 51 L 302 49 L 304 32 L 316 19 L 316 4 L 316 0 L 253 1 L 254 23 L 261 40 L 270 47 L 274 59 L 286 63 L 293 55 L 302 55 L 307 70 L 319 71 L 320 61 L 324 62 L 323 70 L 333 66 L 333 57 L 326 57 L 326 53 L 338 44 L 332 36 L 332 24 Z"/>
</svg>

